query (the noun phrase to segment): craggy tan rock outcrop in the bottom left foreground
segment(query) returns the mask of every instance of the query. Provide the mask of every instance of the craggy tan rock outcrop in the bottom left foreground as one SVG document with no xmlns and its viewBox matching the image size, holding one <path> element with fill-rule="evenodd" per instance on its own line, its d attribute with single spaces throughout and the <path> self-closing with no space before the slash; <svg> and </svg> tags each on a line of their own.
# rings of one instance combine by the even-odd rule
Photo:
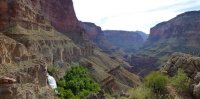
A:
<svg viewBox="0 0 200 99">
<path fill-rule="evenodd" d="M 47 64 L 44 61 L 20 61 L 12 65 L 1 64 L 1 76 L 4 76 L 0 84 L 1 98 L 35 99 L 42 94 L 48 94 L 42 95 L 44 98 L 55 97 L 52 90 L 47 87 Z"/>
</svg>

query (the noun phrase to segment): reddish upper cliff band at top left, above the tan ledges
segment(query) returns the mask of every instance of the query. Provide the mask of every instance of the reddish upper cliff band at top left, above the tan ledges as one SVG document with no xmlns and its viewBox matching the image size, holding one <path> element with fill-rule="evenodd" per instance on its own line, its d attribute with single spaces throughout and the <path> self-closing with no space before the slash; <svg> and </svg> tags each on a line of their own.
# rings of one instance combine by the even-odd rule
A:
<svg viewBox="0 0 200 99">
<path fill-rule="evenodd" d="M 52 26 L 60 32 L 72 32 L 78 28 L 72 0 L 2 0 L 1 29 L 19 24 L 25 28 Z"/>
</svg>

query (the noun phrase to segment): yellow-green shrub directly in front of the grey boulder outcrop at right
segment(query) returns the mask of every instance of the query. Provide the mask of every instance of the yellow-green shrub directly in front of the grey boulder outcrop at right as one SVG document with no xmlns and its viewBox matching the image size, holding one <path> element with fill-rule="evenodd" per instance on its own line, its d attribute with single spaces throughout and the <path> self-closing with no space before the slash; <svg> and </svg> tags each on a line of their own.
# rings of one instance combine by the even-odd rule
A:
<svg viewBox="0 0 200 99">
<path fill-rule="evenodd" d="M 188 91 L 190 79 L 182 69 L 179 69 L 177 74 L 171 78 L 171 84 L 176 87 L 178 92 Z"/>
</svg>

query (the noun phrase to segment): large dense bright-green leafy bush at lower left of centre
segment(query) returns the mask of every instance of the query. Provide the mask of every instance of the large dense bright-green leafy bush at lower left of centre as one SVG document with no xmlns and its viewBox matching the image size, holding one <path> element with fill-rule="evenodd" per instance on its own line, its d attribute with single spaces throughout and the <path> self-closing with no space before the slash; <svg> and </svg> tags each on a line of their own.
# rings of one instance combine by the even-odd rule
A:
<svg viewBox="0 0 200 99">
<path fill-rule="evenodd" d="M 100 90 L 97 84 L 82 66 L 72 66 L 58 82 L 58 91 L 62 99 L 82 99 L 90 93 Z"/>
</svg>

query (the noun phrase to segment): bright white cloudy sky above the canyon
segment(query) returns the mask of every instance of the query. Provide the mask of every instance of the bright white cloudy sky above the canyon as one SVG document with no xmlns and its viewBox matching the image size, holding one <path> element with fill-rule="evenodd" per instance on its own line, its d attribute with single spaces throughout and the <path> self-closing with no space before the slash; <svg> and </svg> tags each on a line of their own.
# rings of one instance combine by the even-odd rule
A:
<svg viewBox="0 0 200 99">
<path fill-rule="evenodd" d="M 186 11 L 200 10 L 200 0 L 73 0 L 76 16 L 103 30 L 143 31 Z"/>
</svg>

